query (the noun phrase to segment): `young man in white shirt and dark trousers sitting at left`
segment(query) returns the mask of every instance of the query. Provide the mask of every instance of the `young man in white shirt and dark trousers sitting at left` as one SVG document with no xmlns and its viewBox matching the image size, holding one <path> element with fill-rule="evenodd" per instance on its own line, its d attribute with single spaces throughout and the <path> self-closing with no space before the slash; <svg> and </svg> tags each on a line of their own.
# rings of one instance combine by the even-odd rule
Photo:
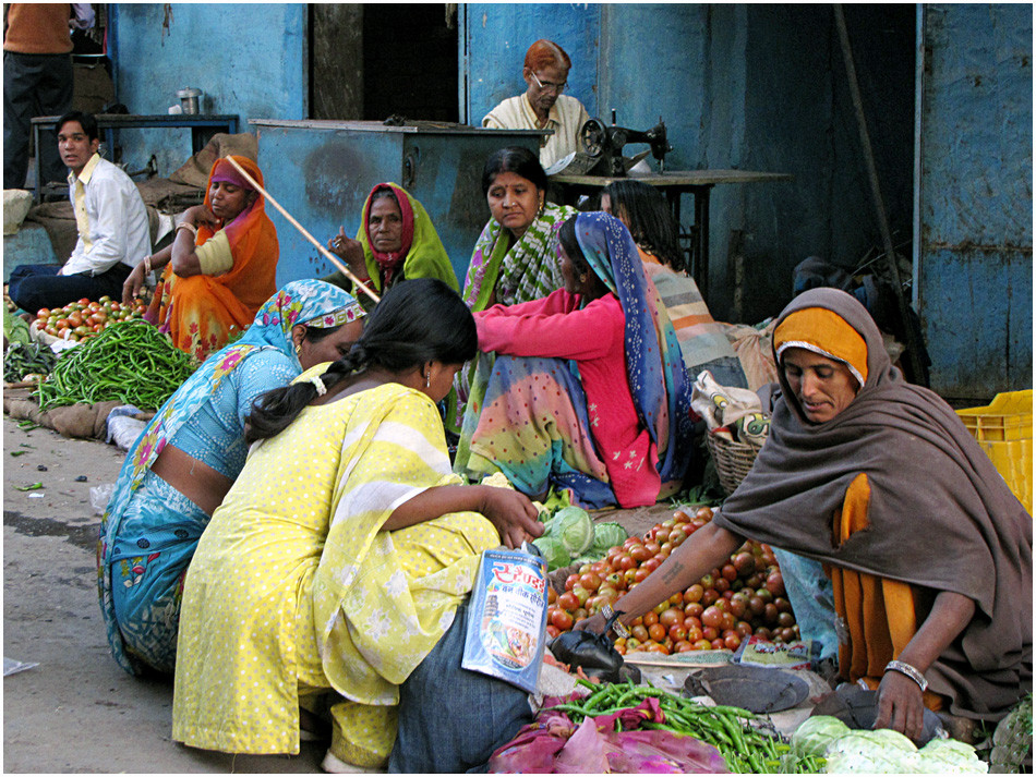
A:
<svg viewBox="0 0 1036 777">
<path fill-rule="evenodd" d="M 20 265 L 8 293 L 24 311 L 86 298 L 122 299 L 130 271 L 150 254 L 147 211 L 136 184 L 97 154 L 97 121 L 81 111 L 58 121 L 58 151 L 69 167 L 69 199 L 79 240 L 63 267 Z"/>
</svg>

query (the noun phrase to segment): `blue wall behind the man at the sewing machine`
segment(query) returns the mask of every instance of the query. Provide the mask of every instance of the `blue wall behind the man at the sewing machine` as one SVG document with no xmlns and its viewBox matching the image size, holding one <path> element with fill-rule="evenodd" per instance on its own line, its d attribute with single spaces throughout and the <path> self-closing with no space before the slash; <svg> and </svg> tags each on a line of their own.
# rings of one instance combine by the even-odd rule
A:
<svg viewBox="0 0 1036 777">
<path fill-rule="evenodd" d="M 875 118 L 871 139 L 889 190 L 890 220 L 900 236 L 908 238 L 913 7 L 892 12 L 845 8 L 860 89 Z M 674 146 L 668 169 L 738 168 L 795 177 L 713 191 L 709 304 L 714 315 L 747 321 L 774 315 L 791 298 L 792 272 L 804 258 L 817 254 L 852 268 L 880 244 L 830 5 L 466 9 L 472 121 L 523 89 L 521 57 L 532 40 L 546 36 L 568 50 L 570 94 L 591 114 L 610 121 L 615 108 L 619 124 L 641 130 L 660 116 L 665 120 Z M 895 14 L 901 21 L 890 24 Z M 890 51 L 899 53 L 894 63 Z M 585 73 L 591 83 L 583 81 Z M 893 80 L 905 100 L 890 97 Z M 903 150 L 890 150 L 895 148 Z M 685 228 L 692 214 L 689 199 L 683 205 Z M 746 258 L 739 312 L 733 309 L 727 266 L 733 230 L 744 235 Z"/>
</svg>

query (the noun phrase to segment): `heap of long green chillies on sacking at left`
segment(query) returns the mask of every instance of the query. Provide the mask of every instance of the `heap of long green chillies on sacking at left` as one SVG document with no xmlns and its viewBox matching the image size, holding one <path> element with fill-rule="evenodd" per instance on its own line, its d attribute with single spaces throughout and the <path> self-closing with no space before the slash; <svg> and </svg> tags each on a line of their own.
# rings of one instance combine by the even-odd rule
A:
<svg viewBox="0 0 1036 777">
<path fill-rule="evenodd" d="M 64 353 L 35 396 L 40 410 L 109 400 L 157 410 L 196 366 L 147 321 L 125 320 Z"/>
</svg>

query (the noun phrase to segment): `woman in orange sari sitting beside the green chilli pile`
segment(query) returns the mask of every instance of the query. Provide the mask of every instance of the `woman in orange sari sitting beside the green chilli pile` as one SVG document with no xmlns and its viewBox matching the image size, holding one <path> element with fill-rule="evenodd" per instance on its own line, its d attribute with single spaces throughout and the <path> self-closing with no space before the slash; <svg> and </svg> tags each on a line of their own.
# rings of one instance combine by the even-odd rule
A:
<svg viewBox="0 0 1036 777">
<path fill-rule="evenodd" d="M 262 186 L 263 173 L 246 157 L 233 157 Z M 145 318 L 169 332 L 181 351 L 204 360 L 244 329 L 277 291 L 277 230 L 263 196 L 226 159 L 208 175 L 205 202 L 183 214 L 172 245 L 148 256 L 130 274 L 123 301 L 140 293 L 144 278 L 165 268 Z"/>
</svg>

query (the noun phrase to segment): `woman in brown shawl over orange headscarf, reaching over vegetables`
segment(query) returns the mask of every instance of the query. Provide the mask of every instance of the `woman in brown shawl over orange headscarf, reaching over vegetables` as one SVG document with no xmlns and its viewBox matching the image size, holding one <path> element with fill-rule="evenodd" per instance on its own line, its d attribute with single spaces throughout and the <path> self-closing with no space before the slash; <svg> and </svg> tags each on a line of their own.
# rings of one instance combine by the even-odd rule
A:
<svg viewBox="0 0 1036 777">
<path fill-rule="evenodd" d="M 782 391 L 755 465 L 619 620 L 750 537 L 824 564 L 840 673 L 878 690 L 876 728 L 917 739 L 924 706 L 998 720 L 1032 690 L 1032 518 L 949 405 L 903 380 L 855 299 L 802 294 L 773 345 Z"/>
</svg>

